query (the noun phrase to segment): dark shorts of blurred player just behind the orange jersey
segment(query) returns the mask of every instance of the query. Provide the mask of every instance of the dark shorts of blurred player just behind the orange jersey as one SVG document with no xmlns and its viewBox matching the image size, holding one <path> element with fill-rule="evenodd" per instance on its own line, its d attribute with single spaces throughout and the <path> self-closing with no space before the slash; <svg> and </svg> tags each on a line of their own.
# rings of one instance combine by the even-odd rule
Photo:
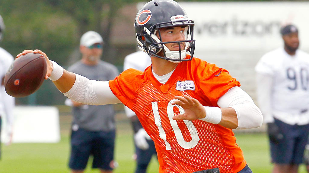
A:
<svg viewBox="0 0 309 173">
<path fill-rule="evenodd" d="M 148 165 L 152 155 L 157 155 L 157 151 L 155 150 L 155 143 L 152 140 L 147 140 L 149 145 L 148 150 L 142 150 L 136 147 L 135 145 L 135 153 L 137 156 L 137 164 L 138 165 Z"/>
</svg>

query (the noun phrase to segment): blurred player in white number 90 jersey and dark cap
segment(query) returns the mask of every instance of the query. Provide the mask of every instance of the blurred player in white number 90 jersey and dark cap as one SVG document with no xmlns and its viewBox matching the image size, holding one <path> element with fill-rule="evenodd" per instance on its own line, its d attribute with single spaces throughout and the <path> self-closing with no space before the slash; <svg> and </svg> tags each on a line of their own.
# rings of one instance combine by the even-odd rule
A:
<svg viewBox="0 0 309 173">
<path fill-rule="evenodd" d="M 257 63 L 257 96 L 268 126 L 273 173 L 297 172 L 309 132 L 309 54 L 298 50 L 298 29 L 281 28 L 284 47 Z"/>
</svg>

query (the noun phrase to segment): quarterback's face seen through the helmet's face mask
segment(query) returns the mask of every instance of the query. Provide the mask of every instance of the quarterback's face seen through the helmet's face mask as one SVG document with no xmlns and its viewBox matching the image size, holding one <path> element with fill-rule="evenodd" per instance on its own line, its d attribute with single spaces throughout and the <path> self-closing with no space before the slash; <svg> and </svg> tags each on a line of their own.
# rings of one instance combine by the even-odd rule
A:
<svg viewBox="0 0 309 173">
<path fill-rule="evenodd" d="M 188 27 L 188 26 L 187 26 Z M 183 41 L 185 40 L 185 26 L 177 26 L 170 28 L 161 28 L 161 41 L 162 42 L 172 42 L 172 41 Z M 160 38 L 159 32 L 156 33 L 157 37 Z M 169 50 L 179 50 L 178 43 L 167 43 L 165 46 Z M 185 42 L 180 42 L 180 49 L 184 50 Z"/>
</svg>

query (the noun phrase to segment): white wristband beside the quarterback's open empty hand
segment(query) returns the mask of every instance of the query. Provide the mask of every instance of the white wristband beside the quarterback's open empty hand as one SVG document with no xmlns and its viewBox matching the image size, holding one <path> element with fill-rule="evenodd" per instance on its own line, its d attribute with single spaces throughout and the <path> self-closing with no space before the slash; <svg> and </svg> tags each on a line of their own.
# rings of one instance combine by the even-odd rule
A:
<svg viewBox="0 0 309 173">
<path fill-rule="evenodd" d="M 204 106 L 206 111 L 205 118 L 200 118 L 200 120 L 207 121 L 213 124 L 219 124 L 222 118 L 222 111 L 219 107 L 208 107 Z"/>
</svg>

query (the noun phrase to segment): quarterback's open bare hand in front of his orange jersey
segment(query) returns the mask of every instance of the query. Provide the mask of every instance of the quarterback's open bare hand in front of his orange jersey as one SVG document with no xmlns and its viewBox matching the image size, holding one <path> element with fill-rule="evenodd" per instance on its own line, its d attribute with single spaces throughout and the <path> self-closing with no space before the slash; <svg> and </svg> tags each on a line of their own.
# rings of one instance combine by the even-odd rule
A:
<svg viewBox="0 0 309 173">
<path fill-rule="evenodd" d="M 172 105 L 179 105 L 184 109 L 184 114 L 180 115 L 175 115 L 173 116 L 174 120 L 180 120 L 180 119 L 185 119 L 185 120 L 196 120 L 199 118 L 205 118 L 206 116 L 206 111 L 203 105 L 194 98 L 189 97 L 188 95 L 182 96 L 175 96 L 175 100 Z"/>
</svg>

